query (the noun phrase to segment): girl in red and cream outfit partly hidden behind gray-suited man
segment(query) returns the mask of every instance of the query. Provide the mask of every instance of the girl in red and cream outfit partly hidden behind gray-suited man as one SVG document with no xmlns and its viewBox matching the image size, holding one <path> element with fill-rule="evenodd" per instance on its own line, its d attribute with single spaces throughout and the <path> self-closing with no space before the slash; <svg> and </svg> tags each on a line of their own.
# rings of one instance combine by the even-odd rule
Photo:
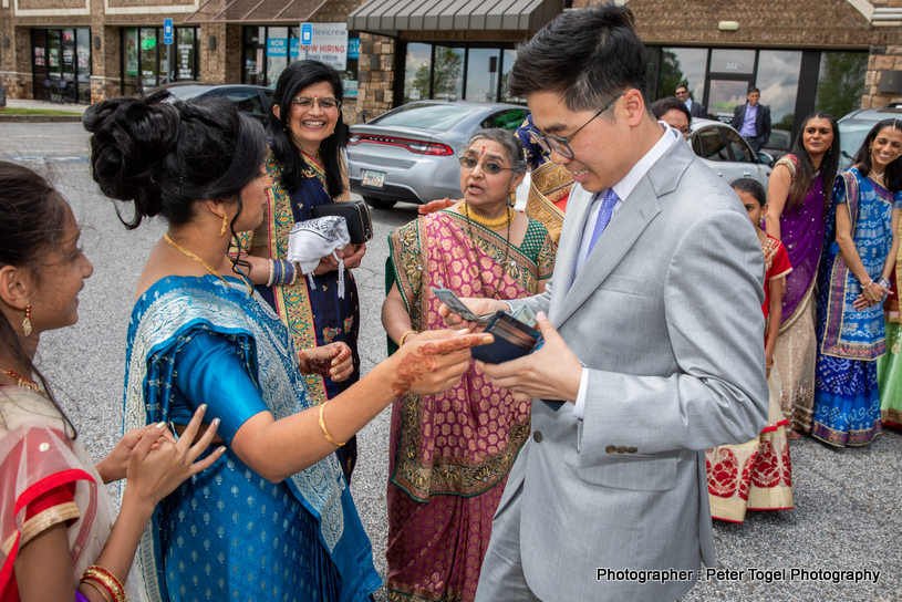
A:
<svg viewBox="0 0 902 602">
<path fill-rule="evenodd" d="M 764 186 L 739 178 L 730 186 L 755 225 L 765 259 L 765 359 L 770 390 L 767 426 L 757 438 L 742 445 L 722 445 L 707 452 L 711 516 L 729 522 L 743 522 L 746 510 L 791 510 L 791 465 L 786 426 L 780 412 L 780 378 L 774 366 L 774 347 L 780 331 L 781 303 L 786 276 L 792 271 L 789 256 L 776 238 L 760 228 L 767 209 Z"/>
</svg>

